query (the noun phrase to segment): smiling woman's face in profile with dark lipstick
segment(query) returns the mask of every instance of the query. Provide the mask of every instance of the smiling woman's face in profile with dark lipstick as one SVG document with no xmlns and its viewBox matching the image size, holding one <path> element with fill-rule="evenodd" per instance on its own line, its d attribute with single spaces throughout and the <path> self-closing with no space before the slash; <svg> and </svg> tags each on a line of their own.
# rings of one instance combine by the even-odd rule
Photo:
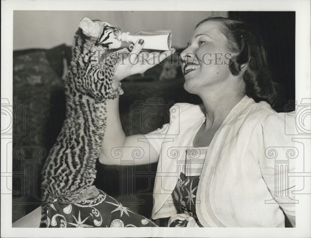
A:
<svg viewBox="0 0 311 238">
<path fill-rule="evenodd" d="M 184 88 L 190 93 L 230 90 L 232 76 L 228 64 L 227 38 L 219 31 L 219 22 L 207 21 L 193 32 L 187 48 L 181 53 Z M 232 84 L 232 82 L 231 82 Z"/>
</svg>

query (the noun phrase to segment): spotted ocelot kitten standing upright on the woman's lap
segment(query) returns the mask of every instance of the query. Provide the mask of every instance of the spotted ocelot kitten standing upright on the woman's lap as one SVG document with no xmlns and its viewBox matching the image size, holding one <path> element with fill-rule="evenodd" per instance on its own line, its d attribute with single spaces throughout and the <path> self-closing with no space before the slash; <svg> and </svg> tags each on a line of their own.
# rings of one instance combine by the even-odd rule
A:
<svg viewBox="0 0 311 238">
<path fill-rule="evenodd" d="M 114 63 L 108 57 L 105 64 L 99 64 L 96 56 L 120 47 L 120 34 L 118 27 L 88 18 L 81 20 L 75 34 L 65 83 L 66 119 L 42 171 L 42 199 L 46 204 L 42 205 L 40 227 L 49 227 L 47 210 L 55 199 L 70 204 L 98 195 L 92 183 L 106 127 L 105 100 L 115 62 L 124 55 L 120 52 L 128 51 L 116 51 Z"/>
</svg>

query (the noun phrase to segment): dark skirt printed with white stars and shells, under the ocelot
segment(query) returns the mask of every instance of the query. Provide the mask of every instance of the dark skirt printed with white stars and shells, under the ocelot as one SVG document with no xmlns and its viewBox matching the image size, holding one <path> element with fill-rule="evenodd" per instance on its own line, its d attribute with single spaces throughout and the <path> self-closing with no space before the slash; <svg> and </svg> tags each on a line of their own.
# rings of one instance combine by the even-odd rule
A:
<svg viewBox="0 0 311 238">
<path fill-rule="evenodd" d="M 98 191 L 97 198 L 79 203 L 59 204 L 55 199 L 48 209 L 48 227 L 157 227 L 148 218 Z"/>
</svg>

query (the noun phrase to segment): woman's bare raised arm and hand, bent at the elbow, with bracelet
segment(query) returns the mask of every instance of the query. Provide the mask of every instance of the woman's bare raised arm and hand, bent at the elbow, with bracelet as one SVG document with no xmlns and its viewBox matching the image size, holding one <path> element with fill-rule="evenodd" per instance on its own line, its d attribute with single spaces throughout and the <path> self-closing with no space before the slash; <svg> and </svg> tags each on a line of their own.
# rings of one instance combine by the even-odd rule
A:
<svg viewBox="0 0 311 238">
<path fill-rule="evenodd" d="M 114 89 L 118 88 L 119 83 L 123 78 L 136 73 L 144 73 L 148 68 L 159 64 L 166 57 L 174 53 L 174 49 L 172 49 L 161 54 L 145 54 L 143 55 L 144 57 L 142 57 L 140 53 L 142 51 L 143 45 L 143 40 L 138 40 L 135 43 L 129 56 L 124 59 L 122 64 L 118 65 L 114 74 L 114 82 L 112 84 Z M 137 60 L 138 62 L 136 62 Z M 146 60 L 149 60 L 149 62 L 154 64 L 147 64 Z M 149 143 L 146 143 L 147 139 L 144 135 L 125 136 L 119 115 L 119 96 L 117 96 L 115 99 L 107 99 L 106 109 L 107 125 L 101 152 L 99 155 L 100 163 L 107 165 L 119 165 L 120 160 L 116 158 L 118 156 L 114 156 L 116 153 L 122 153 L 123 158 L 131 159 L 132 153 L 137 148 L 140 148 L 140 150 L 143 151 L 143 156 L 140 157 L 139 160 L 135 161 L 137 165 L 156 162 L 158 160 L 159 153 L 156 152 L 156 150 L 151 145 L 149 145 Z"/>
</svg>

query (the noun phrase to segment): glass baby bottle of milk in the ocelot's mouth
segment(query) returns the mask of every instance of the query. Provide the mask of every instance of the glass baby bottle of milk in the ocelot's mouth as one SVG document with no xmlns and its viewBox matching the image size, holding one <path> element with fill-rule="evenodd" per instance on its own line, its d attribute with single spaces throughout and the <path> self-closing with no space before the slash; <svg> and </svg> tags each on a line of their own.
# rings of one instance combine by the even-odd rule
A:
<svg viewBox="0 0 311 238">
<path fill-rule="evenodd" d="M 134 34 L 123 32 L 121 41 L 136 43 L 138 39 L 145 41 L 144 49 L 167 51 L 172 44 L 172 31 L 170 30 L 155 30 L 155 29 L 140 29 Z"/>
</svg>

